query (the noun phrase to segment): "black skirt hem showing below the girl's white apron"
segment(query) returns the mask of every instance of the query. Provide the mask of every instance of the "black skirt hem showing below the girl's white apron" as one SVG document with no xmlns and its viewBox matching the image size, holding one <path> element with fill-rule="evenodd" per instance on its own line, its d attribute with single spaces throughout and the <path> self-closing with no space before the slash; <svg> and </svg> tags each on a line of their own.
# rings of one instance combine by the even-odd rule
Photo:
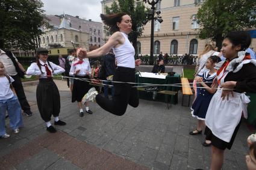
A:
<svg viewBox="0 0 256 170">
<path fill-rule="evenodd" d="M 237 132 L 239 130 L 241 120 L 240 120 L 239 124 L 237 124 L 237 127 L 234 130 L 234 133 L 229 142 L 225 142 L 222 139 L 217 138 L 217 136 L 213 135 L 213 133 L 207 126 L 205 127 L 205 131 L 204 131 L 204 135 L 206 135 L 205 139 L 211 141 L 211 144 L 214 147 L 219 148 L 220 150 L 225 150 L 226 148 L 228 148 L 230 150 L 234 143 L 234 140 L 236 138 Z"/>
</svg>

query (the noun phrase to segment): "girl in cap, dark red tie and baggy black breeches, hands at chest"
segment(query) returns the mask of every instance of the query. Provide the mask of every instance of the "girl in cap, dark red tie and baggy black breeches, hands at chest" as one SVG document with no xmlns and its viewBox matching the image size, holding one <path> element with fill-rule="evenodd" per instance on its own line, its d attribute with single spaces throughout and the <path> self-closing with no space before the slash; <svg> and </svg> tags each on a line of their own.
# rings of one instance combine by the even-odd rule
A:
<svg viewBox="0 0 256 170">
<path fill-rule="evenodd" d="M 49 62 L 48 50 L 40 47 L 37 49 L 37 62 L 33 62 L 28 67 L 28 75 L 39 76 L 36 97 L 37 106 L 42 119 L 46 123 L 46 130 L 55 133 L 56 129 L 51 125 L 51 116 L 54 116 L 54 125 L 64 126 L 66 123 L 59 120 L 60 114 L 60 93 L 52 80 L 52 75 L 63 73 L 65 70 L 60 66 Z"/>
</svg>

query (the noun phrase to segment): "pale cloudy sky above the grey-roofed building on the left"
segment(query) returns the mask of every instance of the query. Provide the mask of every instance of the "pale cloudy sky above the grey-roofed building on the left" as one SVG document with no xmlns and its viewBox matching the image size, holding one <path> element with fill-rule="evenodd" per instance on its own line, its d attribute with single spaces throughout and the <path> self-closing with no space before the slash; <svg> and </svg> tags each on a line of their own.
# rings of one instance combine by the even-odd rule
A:
<svg viewBox="0 0 256 170">
<path fill-rule="evenodd" d="M 69 14 L 79 16 L 81 19 L 92 19 L 101 22 L 102 0 L 41 0 L 44 4 L 43 10 L 48 15 Z"/>
</svg>

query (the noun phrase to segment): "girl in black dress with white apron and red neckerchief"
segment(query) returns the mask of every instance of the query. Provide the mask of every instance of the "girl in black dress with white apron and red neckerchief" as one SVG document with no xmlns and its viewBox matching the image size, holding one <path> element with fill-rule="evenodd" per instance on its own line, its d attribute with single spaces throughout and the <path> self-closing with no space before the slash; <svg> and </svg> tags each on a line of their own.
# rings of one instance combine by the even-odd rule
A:
<svg viewBox="0 0 256 170">
<path fill-rule="evenodd" d="M 231 149 L 241 124 L 242 113 L 247 117 L 250 102 L 245 95 L 256 93 L 256 61 L 245 50 L 251 44 L 251 37 L 245 31 L 229 32 L 222 42 L 222 53 L 226 61 L 218 63 L 219 85 L 211 99 L 205 117 L 206 139 L 211 141 L 211 168 L 222 169 L 224 151 Z"/>
</svg>

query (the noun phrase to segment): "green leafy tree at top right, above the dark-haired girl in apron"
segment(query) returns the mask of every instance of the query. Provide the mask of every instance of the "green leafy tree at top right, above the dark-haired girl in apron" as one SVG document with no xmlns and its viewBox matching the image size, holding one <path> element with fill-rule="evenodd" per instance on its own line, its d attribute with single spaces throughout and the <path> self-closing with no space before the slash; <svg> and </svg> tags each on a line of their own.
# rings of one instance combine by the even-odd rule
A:
<svg viewBox="0 0 256 170">
<path fill-rule="evenodd" d="M 210 38 L 221 48 L 226 33 L 256 27 L 255 0 L 205 0 L 198 10 L 199 38 Z"/>
</svg>

